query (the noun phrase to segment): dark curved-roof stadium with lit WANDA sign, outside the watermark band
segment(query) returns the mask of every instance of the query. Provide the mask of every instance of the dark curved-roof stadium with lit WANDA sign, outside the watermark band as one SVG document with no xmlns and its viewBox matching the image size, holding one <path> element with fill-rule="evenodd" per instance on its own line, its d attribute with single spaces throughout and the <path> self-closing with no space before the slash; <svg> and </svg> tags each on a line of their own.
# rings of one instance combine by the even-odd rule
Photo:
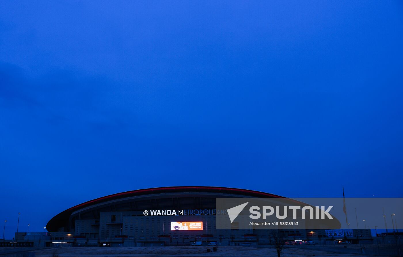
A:
<svg viewBox="0 0 403 257">
<path fill-rule="evenodd" d="M 218 245 L 270 242 L 263 229 L 216 229 L 217 197 L 280 197 L 226 187 L 160 187 L 108 195 L 54 216 L 46 233 L 18 233 L 17 242 L 42 238 L 48 246 L 164 246 L 215 241 Z M 283 231 L 287 240 L 325 240 L 325 230 Z M 355 231 L 370 237 L 370 230 Z M 327 238 L 329 239 L 329 238 Z"/>
</svg>

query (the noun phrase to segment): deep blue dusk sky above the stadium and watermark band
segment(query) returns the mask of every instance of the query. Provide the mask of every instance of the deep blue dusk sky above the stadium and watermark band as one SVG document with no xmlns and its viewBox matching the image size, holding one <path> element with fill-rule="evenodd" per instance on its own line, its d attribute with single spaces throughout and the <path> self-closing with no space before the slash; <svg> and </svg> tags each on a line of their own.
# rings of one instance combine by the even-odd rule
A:
<svg viewBox="0 0 403 257">
<path fill-rule="evenodd" d="M 148 187 L 403 197 L 402 46 L 401 1 L 1 1 L 6 238 Z"/>
</svg>

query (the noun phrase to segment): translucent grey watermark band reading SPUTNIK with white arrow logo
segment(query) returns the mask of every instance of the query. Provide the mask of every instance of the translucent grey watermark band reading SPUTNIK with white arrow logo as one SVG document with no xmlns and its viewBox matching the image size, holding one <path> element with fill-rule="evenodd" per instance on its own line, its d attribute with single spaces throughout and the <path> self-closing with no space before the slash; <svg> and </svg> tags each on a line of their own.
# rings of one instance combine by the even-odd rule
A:
<svg viewBox="0 0 403 257">
<path fill-rule="evenodd" d="M 225 211 L 216 213 L 216 228 L 350 229 L 349 220 L 356 218 L 354 209 L 364 213 L 367 225 L 380 227 L 374 209 L 397 215 L 403 213 L 402 203 L 403 198 L 217 197 L 216 209 Z"/>
</svg>

